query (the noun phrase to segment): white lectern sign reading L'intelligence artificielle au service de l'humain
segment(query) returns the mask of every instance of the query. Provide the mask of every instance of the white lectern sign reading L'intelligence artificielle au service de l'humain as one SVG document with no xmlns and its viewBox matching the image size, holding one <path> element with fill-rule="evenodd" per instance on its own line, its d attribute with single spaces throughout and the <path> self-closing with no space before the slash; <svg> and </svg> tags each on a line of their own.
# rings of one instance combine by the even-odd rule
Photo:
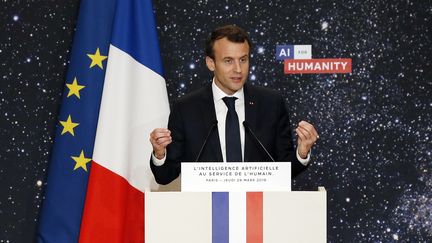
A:
<svg viewBox="0 0 432 243">
<path fill-rule="evenodd" d="M 182 191 L 291 191 L 291 163 L 183 162 Z"/>
</svg>

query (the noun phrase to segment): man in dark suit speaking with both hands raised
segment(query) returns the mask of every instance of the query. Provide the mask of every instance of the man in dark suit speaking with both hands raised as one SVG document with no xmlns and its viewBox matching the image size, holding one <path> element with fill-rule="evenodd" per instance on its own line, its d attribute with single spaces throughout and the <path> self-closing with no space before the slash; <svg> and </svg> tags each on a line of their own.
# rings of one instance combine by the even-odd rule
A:
<svg viewBox="0 0 432 243">
<path fill-rule="evenodd" d="M 233 25 L 219 27 L 208 37 L 206 65 L 214 73 L 212 84 L 179 99 L 168 129 L 156 128 L 150 134 L 156 182 L 176 179 L 184 161 L 291 161 L 293 177 L 307 167 L 318 134 L 301 121 L 294 151 L 283 97 L 245 84 L 250 47 L 247 33 Z"/>
</svg>

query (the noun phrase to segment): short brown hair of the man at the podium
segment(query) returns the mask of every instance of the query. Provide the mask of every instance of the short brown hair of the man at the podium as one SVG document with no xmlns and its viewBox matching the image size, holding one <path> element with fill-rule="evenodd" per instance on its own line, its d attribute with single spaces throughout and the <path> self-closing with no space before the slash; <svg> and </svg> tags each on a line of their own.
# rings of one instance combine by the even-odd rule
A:
<svg viewBox="0 0 432 243">
<path fill-rule="evenodd" d="M 205 43 L 205 54 L 209 56 L 211 59 L 214 59 L 214 43 L 217 40 L 227 38 L 231 42 L 235 43 L 243 43 L 247 41 L 249 45 L 249 50 L 252 48 L 251 41 L 249 39 L 249 35 L 242 28 L 235 25 L 224 25 L 221 27 L 217 27 L 212 33 L 207 37 Z"/>
</svg>

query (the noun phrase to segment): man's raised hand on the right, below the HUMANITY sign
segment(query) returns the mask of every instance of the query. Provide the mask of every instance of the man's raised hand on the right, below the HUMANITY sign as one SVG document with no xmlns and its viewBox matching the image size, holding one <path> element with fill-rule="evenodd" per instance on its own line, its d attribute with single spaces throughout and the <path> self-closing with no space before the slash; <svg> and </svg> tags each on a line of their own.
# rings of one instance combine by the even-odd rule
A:
<svg viewBox="0 0 432 243">
<path fill-rule="evenodd" d="M 296 128 L 297 151 L 301 158 L 307 158 L 309 151 L 319 138 L 314 126 L 306 121 L 301 121 Z"/>
</svg>

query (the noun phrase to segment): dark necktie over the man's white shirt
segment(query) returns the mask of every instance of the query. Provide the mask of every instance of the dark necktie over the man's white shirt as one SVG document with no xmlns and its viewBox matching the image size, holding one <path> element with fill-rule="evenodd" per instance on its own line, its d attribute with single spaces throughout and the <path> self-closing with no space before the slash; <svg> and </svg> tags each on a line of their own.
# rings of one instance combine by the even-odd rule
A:
<svg viewBox="0 0 432 243">
<path fill-rule="evenodd" d="M 227 162 L 241 162 L 240 128 L 237 112 L 235 111 L 236 97 L 224 97 L 223 101 L 228 107 L 225 120 L 225 146 Z"/>
</svg>

